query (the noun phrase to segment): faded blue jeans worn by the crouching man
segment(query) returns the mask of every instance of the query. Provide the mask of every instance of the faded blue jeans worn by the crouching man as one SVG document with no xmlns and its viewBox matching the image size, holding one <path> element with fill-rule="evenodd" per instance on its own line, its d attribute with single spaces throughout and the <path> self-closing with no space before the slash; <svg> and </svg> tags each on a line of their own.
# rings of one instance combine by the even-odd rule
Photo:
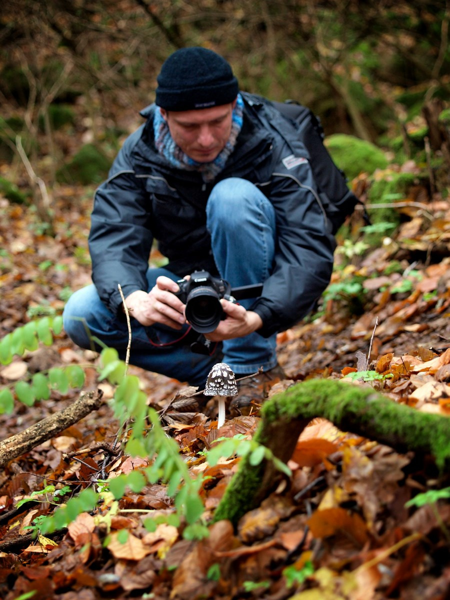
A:
<svg viewBox="0 0 450 600">
<path fill-rule="evenodd" d="M 220 181 L 209 196 L 206 219 L 222 278 L 235 287 L 268 278 L 275 252 L 275 211 L 256 186 L 239 178 Z M 167 269 L 148 269 L 148 291 L 160 275 L 179 279 Z M 241 300 L 239 304 L 248 308 L 252 302 Z M 63 319 L 65 331 L 79 346 L 98 350 L 101 346 L 95 343 L 97 338 L 125 358 L 127 323 L 106 308 L 94 285 L 73 293 Z M 146 328 L 131 319 L 130 363 L 196 386 L 205 385 L 216 362 L 226 362 L 238 374 L 255 373 L 260 367 L 266 371 L 277 364 L 276 335 L 263 338 L 255 332 L 226 340 L 205 356 L 191 352 L 192 332 L 180 340 L 186 331 L 187 326 L 181 331 L 158 324 Z"/>
</svg>

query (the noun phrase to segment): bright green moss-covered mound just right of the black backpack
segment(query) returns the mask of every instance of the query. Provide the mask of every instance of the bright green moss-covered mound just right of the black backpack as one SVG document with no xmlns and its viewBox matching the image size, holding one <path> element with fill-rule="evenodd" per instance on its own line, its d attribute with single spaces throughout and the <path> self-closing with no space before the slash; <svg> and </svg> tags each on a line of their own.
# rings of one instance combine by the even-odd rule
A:
<svg viewBox="0 0 450 600">
<path fill-rule="evenodd" d="M 371 175 L 376 169 L 388 166 L 388 160 L 380 148 L 358 137 L 335 133 L 326 137 L 325 145 L 334 162 L 349 179 L 357 177 L 359 173 Z"/>
</svg>

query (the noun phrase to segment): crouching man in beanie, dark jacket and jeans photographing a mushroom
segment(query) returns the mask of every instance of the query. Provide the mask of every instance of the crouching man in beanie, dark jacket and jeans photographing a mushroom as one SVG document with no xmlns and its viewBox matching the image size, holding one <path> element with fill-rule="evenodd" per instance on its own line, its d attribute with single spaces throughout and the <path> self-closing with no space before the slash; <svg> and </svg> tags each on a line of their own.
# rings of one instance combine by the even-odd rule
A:
<svg viewBox="0 0 450 600">
<path fill-rule="evenodd" d="M 236 377 L 277 369 L 276 335 L 313 308 L 329 283 L 329 233 L 295 124 L 263 98 L 239 92 L 230 65 L 211 50 L 177 50 L 157 78 L 155 104 L 125 141 L 95 193 L 89 250 L 94 285 L 64 311 L 67 334 L 92 338 L 130 362 L 205 386 L 216 362 Z M 157 240 L 169 259 L 148 268 Z M 263 283 L 259 298 L 220 300 L 226 318 L 205 335 L 185 318 L 176 283 L 196 270 L 232 285 Z M 80 318 L 81 317 L 81 318 Z M 86 328 L 87 325 L 87 328 Z"/>
</svg>

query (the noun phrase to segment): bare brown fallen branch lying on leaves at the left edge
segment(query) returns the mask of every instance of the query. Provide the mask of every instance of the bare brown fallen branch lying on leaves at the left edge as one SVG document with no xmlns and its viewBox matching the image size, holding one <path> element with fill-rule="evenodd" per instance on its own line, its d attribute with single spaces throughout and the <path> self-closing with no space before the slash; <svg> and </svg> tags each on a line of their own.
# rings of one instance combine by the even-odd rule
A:
<svg viewBox="0 0 450 600">
<path fill-rule="evenodd" d="M 80 397 L 64 410 L 47 416 L 15 436 L 8 437 L 8 439 L 0 442 L 0 466 L 4 466 L 13 458 L 29 452 L 40 443 L 46 442 L 46 440 L 61 433 L 61 431 L 89 415 L 92 410 L 97 410 L 100 407 L 102 395 L 101 390 L 97 391 L 95 397 L 94 392 L 81 392 Z"/>
</svg>

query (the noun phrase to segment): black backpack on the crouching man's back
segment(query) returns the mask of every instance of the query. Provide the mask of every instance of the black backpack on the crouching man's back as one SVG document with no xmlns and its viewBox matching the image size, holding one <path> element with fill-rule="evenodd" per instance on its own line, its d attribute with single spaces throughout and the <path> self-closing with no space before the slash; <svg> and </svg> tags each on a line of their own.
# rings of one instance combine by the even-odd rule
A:
<svg viewBox="0 0 450 600">
<path fill-rule="evenodd" d="M 325 136 L 319 118 L 306 106 L 291 100 L 285 103 L 271 101 L 270 104 L 298 125 L 300 140 L 310 153 L 310 166 L 319 190 L 320 202 L 331 223 L 331 232 L 336 233 L 346 218 L 353 213 L 355 206 L 362 205 L 361 200 L 349 190 L 346 176 L 334 164 L 323 145 Z M 367 223 L 370 222 L 365 209 L 363 217 Z"/>
</svg>

